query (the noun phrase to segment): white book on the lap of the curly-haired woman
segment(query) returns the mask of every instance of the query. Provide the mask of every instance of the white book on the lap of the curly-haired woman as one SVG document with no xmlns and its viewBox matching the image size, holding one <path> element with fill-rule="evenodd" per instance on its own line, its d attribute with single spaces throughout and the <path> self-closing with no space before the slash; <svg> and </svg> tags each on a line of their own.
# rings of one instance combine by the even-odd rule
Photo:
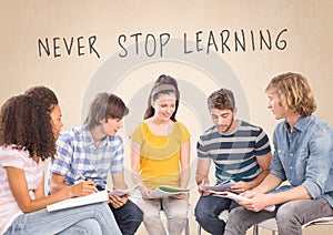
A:
<svg viewBox="0 0 333 235">
<path fill-rule="evenodd" d="M 53 203 L 47 206 L 48 212 L 53 212 L 63 208 L 71 208 L 82 205 L 89 205 L 94 203 L 107 202 L 109 200 L 109 195 L 107 191 L 100 191 L 98 193 L 92 193 L 87 196 L 79 196 L 69 200 L 64 200 L 58 203 Z"/>
</svg>

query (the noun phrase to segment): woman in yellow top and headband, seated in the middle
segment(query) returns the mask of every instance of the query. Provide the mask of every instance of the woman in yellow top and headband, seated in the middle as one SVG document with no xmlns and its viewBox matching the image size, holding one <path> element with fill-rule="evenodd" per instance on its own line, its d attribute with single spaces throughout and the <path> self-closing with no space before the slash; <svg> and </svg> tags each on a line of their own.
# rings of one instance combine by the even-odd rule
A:
<svg viewBox="0 0 333 235">
<path fill-rule="evenodd" d="M 179 106 L 176 81 L 161 75 L 148 101 L 144 121 L 132 134 L 131 168 L 134 183 L 141 183 L 143 223 L 149 234 L 167 234 L 160 211 L 168 217 L 169 234 L 181 234 L 188 217 L 185 193 L 153 198 L 150 193 L 160 185 L 186 188 L 190 180 L 190 133 L 175 120 Z"/>
</svg>

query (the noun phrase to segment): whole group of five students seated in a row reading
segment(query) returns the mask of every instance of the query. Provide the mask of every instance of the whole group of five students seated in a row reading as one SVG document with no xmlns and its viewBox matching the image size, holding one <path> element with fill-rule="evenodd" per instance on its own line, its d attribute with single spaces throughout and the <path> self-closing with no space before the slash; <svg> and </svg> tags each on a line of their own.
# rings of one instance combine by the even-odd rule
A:
<svg viewBox="0 0 333 235">
<path fill-rule="evenodd" d="M 269 137 L 256 125 L 238 120 L 233 93 L 220 89 L 208 98 L 213 126 L 196 144 L 195 180 L 201 194 L 195 217 L 211 234 L 245 234 L 252 225 L 275 217 L 279 234 L 302 234 L 302 224 L 333 215 L 333 130 L 312 113 L 316 109 L 306 79 L 284 73 L 265 92 L 278 120 L 272 156 Z M 149 234 L 181 234 L 188 218 L 188 193 L 153 198 L 160 185 L 188 188 L 190 133 L 176 121 L 176 81 L 154 82 L 143 121 L 131 134 L 131 176 L 141 197 L 110 195 L 107 203 L 47 212 L 49 204 L 105 190 L 125 190 L 123 144 L 117 134 L 129 113 L 123 101 L 99 93 L 84 125 L 61 132 L 61 109 L 53 91 L 33 86 L 10 98 L 0 111 L 1 234 L 135 234 L 143 222 Z M 50 195 L 44 188 L 44 161 L 51 162 Z M 209 171 L 216 184 L 233 180 L 229 191 L 248 197 L 232 201 L 212 195 Z M 281 186 L 283 182 L 289 184 Z M 273 212 L 264 208 L 275 205 Z M 168 218 L 165 231 L 160 218 Z M 219 218 L 224 210 L 228 222 Z"/>
</svg>

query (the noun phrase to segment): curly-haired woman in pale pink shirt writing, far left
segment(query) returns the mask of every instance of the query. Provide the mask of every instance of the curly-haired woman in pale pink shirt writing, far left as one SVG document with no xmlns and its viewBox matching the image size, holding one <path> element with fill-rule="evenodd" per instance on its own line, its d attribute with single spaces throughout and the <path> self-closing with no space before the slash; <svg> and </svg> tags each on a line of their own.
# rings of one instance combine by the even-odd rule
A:
<svg viewBox="0 0 333 235">
<path fill-rule="evenodd" d="M 62 127 L 54 98 L 47 101 L 27 92 L 10 98 L 1 108 L 0 233 L 121 234 L 107 203 L 46 210 L 49 204 L 88 195 L 95 186 L 87 181 L 44 195 L 44 160 L 56 154 L 56 140 Z"/>
</svg>

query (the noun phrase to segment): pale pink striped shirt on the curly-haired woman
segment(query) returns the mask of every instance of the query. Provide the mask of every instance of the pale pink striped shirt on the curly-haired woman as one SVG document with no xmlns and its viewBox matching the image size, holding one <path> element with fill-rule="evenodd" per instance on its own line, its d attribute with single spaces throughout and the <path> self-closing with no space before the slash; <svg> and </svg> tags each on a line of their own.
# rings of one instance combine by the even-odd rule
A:
<svg viewBox="0 0 333 235">
<path fill-rule="evenodd" d="M 42 183 L 44 163 L 36 163 L 28 151 L 12 146 L 0 149 L 0 234 L 3 234 L 17 216 L 23 214 L 11 193 L 6 167 L 11 166 L 24 171 L 30 198 L 34 200 L 33 191 Z"/>
</svg>

